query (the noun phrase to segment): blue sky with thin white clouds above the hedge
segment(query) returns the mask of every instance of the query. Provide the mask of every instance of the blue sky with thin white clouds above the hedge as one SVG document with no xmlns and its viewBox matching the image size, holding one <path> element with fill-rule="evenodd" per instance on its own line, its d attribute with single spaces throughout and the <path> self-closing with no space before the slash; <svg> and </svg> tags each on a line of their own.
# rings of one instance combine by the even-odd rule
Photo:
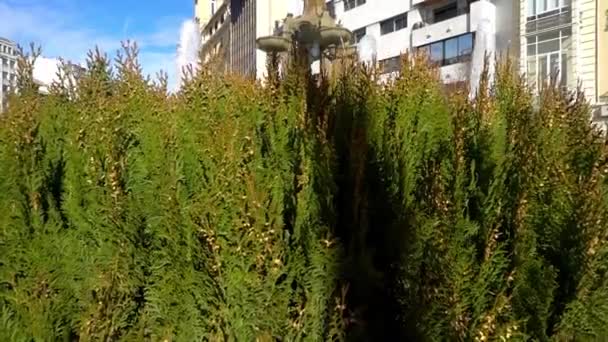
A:
<svg viewBox="0 0 608 342">
<path fill-rule="evenodd" d="M 45 57 L 83 62 L 98 45 L 113 56 L 120 41 L 136 40 L 144 72 L 160 69 L 176 81 L 179 31 L 193 0 L 0 0 L 0 36 L 35 42 Z"/>
</svg>

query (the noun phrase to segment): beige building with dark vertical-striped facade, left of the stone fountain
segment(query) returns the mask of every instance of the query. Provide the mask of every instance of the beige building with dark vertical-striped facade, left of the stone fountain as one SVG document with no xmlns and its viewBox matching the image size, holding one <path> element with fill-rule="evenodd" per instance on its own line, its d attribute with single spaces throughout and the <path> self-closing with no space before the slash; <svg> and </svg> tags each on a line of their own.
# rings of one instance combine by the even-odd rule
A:
<svg viewBox="0 0 608 342">
<path fill-rule="evenodd" d="M 286 0 L 195 0 L 205 58 L 218 55 L 225 70 L 262 78 L 266 54 L 255 40 L 274 32 L 287 7 Z"/>
</svg>

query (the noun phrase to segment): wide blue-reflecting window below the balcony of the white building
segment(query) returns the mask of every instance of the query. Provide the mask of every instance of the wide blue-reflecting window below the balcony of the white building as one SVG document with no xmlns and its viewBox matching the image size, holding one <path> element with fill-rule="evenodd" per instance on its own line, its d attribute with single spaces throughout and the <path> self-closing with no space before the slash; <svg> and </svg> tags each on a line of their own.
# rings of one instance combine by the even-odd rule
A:
<svg viewBox="0 0 608 342">
<path fill-rule="evenodd" d="M 427 54 L 432 63 L 439 65 L 467 62 L 473 54 L 473 33 L 420 46 L 417 50 Z"/>
</svg>

